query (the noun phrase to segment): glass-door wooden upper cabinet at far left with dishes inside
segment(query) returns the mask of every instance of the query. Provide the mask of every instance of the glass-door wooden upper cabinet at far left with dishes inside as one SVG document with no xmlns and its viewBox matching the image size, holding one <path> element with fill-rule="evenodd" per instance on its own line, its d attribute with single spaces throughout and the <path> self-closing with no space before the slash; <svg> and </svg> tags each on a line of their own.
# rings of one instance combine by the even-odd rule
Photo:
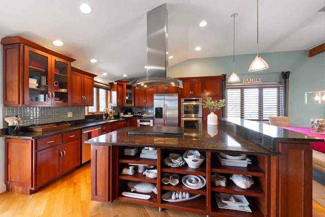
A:
<svg viewBox="0 0 325 217">
<path fill-rule="evenodd" d="M 3 38 L 4 106 L 69 105 L 75 59 L 19 36 Z"/>
</svg>

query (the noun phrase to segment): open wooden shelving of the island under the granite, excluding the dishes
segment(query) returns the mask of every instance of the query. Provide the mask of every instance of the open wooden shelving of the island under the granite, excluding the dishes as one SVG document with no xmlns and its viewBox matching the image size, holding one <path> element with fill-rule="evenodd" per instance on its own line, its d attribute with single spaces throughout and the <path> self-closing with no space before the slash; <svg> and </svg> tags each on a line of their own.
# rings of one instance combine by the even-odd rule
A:
<svg viewBox="0 0 325 217">
<path fill-rule="evenodd" d="M 266 175 L 270 173 L 270 156 L 248 156 L 252 160 L 252 165 L 247 168 L 243 167 L 229 167 L 222 166 L 217 160 L 217 153 L 211 151 L 200 151 L 205 156 L 205 161 L 197 169 L 193 169 L 187 166 L 187 164 L 180 167 L 170 167 L 164 163 L 164 159 L 169 156 L 171 149 L 157 148 L 157 159 L 140 158 L 140 151 L 136 156 L 125 156 L 125 146 L 115 145 L 92 145 L 92 161 L 96 162 L 96 165 L 103 165 L 107 167 L 95 167 L 91 168 L 91 196 L 92 200 L 98 200 L 101 202 L 113 202 L 114 200 L 138 203 L 142 205 L 152 205 L 166 209 L 183 210 L 193 213 L 202 213 L 210 216 L 239 216 L 245 214 L 245 216 L 269 216 L 270 207 L 267 205 L 270 203 L 270 178 Z M 142 148 L 142 147 L 140 147 Z M 173 153 L 178 153 L 181 156 L 185 150 L 173 149 Z M 112 159 L 115 156 L 116 159 Z M 145 164 L 153 166 L 158 170 L 157 178 L 147 178 L 146 175 L 136 172 L 134 175 L 121 174 L 124 167 L 128 167 L 129 164 Z M 114 166 L 113 166 L 114 165 Z M 113 171 L 112 169 L 115 169 Z M 180 183 L 173 186 L 171 184 L 161 183 L 161 178 L 164 174 L 178 174 L 180 176 Z M 223 174 L 228 177 L 226 187 L 215 185 L 211 182 L 211 176 L 215 173 Z M 206 185 L 198 190 L 189 189 L 182 183 L 182 177 L 185 175 L 198 175 L 202 176 L 206 181 Z M 231 174 L 243 174 L 251 176 L 254 180 L 254 184 L 249 189 L 241 189 L 237 187 L 230 179 Z M 110 179 L 107 179 L 110 177 Z M 109 181 L 108 181 L 109 180 Z M 139 200 L 134 198 L 125 197 L 122 192 L 131 192 L 127 187 L 128 181 L 140 181 L 149 182 L 157 186 L 157 194 L 146 193 L 150 195 L 148 200 Z M 113 187 L 113 188 L 110 188 Z M 171 203 L 165 201 L 162 197 L 164 194 L 170 192 L 185 192 L 190 195 L 197 195 L 194 200 L 183 201 L 181 203 Z M 216 203 L 215 194 L 228 193 L 239 194 L 246 196 L 246 199 L 250 203 L 249 207 L 252 212 L 241 212 L 229 209 L 219 209 Z"/>
</svg>

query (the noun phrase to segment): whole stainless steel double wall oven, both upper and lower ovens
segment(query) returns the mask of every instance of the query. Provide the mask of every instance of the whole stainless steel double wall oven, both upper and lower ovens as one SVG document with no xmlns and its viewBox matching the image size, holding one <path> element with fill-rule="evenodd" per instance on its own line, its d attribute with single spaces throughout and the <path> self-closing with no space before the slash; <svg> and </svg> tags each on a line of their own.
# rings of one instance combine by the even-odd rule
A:
<svg viewBox="0 0 325 217">
<path fill-rule="evenodd" d="M 181 127 L 184 135 L 202 135 L 202 98 L 181 98 Z"/>
</svg>

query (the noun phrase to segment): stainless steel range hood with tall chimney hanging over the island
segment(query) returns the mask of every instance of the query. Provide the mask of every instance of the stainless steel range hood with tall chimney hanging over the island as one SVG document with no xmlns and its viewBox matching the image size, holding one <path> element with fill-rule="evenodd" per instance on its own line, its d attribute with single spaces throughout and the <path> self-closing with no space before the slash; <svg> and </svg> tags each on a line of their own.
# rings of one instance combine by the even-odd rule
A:
<svg viewBox="0 0 325 217">
<path fill-rule="evenodd" d="M 183 88 L 181 80 L 166 77 L 168 70 L 168 13 L 167 5 L 147 12 L 147 77 L 129 82 L 139 88 L 154 85 L 173 85 Z"/>
</svg>

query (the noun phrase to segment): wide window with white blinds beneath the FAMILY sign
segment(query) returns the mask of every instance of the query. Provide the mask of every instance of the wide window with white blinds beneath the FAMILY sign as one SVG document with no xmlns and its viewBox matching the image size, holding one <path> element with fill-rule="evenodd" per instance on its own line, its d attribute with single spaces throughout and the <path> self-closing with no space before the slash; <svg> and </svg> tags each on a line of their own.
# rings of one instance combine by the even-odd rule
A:
<svg viewBox="0 0 325 217">
<path fill-rule="evenodd" d="M 226 87 L 226 116 L 268 120 L 282 116 L 282 85 L 241 85 Z"/>
</svg>

